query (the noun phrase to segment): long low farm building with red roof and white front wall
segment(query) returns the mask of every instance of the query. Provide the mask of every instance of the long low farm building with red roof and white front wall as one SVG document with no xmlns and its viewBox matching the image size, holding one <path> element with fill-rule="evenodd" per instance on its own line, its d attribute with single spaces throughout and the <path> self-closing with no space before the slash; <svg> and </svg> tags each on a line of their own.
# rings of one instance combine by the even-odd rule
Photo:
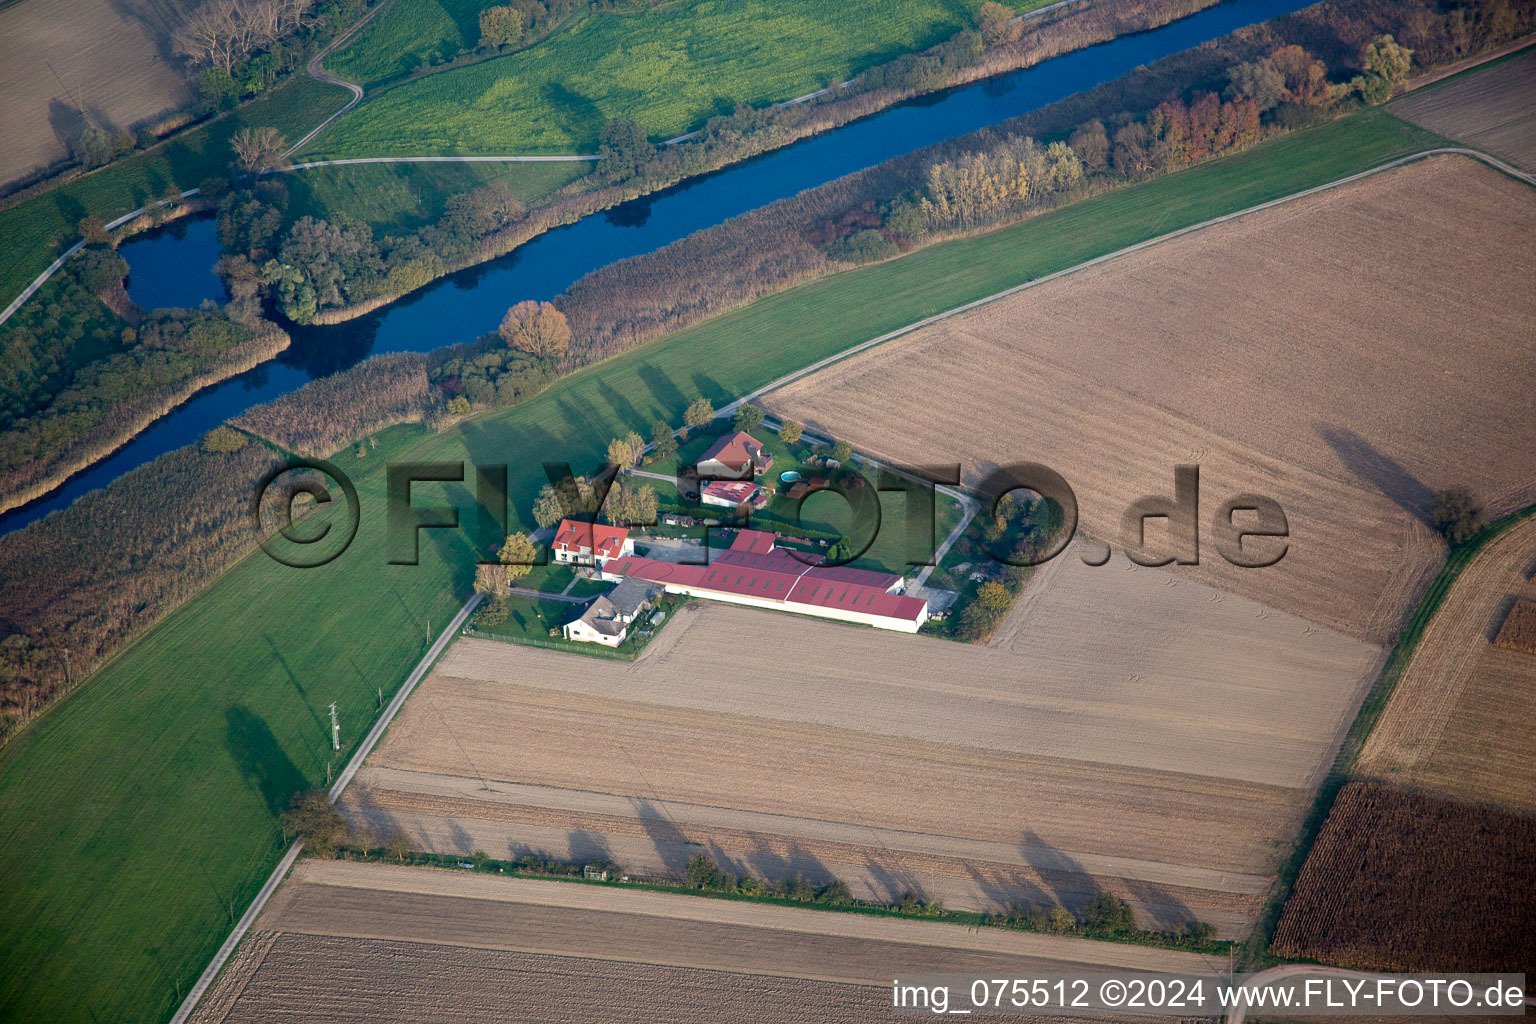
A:
<svg viewBox="0 0 1536 1024">
<path fill-rule="evenodd" d="M 671 594 L 794 611 L 900 633 L 917 633 L 928 620 L 928 602 L 903 596 L 900 576 L 826 567 L 819 563 L 820 556 L 803 556 L 802 560 L 774 542 L 771 533 L 742 530 L 730 550 L 717 554 L 708 565 L 625 557 L 604 563 L 602 577 L 645 580 Z"/>
</svg>

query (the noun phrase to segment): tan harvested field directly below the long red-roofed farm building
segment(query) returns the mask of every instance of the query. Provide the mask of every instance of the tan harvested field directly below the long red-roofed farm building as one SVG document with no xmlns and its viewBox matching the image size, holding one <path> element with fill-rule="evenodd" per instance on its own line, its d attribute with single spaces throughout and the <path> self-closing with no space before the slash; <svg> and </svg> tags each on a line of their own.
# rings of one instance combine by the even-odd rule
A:
<svg viewBox="0 0 1536 1024">
<path fill-rule="evenodd" d="M 634 663 L 461 640 L 346 812 L 439 852 L 677 875 L 703 847 L 1243 933 L 1379 651 L 1155 570 L 1064 559 L 1031 591 L 989 648 L 707 603 Z"/>
</svg>

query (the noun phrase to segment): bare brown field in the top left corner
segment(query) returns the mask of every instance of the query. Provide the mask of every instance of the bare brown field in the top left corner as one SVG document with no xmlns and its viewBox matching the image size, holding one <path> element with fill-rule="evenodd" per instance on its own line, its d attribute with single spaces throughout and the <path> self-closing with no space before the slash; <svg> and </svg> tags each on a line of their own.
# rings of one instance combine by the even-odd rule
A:
<svg viewBox="0 0 1536 1024">
<path fill-rule="evenodd" d="M 0 9 L 0 183 L 68 155 L 84 127 L 129 127 L 192 98 L 170 55 L 187 0 L 20 0 Z"/>
</svg>

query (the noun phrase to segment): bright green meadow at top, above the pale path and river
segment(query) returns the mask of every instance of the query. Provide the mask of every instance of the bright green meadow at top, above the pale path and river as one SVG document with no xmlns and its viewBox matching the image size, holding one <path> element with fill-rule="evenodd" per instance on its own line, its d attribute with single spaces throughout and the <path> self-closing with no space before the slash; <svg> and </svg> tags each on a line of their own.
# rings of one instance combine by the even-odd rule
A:
<svg viewBox="0 0 1536 1024">
<path fill-rule="evenodd" d="M 932 46 L 971 25 L 977 6 L 980 0 L 670 0 L 602 11 L 528 49 L 379 92 L 309 154 L 590 154 L 604 121 L 619 117 L 656 140 L 670 138 L 737 104 L 790 100 Z M 395 41 L 392 18 L 452 21 L 462 38 L 467 9 L 458 0 L 402 0 L 327 68 L 369 78 L 415 60 Z"/>
</svg>

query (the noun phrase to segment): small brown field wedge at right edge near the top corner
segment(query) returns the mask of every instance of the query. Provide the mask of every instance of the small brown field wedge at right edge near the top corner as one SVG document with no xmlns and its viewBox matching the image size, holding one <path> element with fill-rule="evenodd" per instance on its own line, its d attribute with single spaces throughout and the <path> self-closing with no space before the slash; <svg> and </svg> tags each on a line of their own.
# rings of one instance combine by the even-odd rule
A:
<svg viewBox="0 0 1536 1024">
<path fill-rule="evenodd" d="M 1419 127 L 1536 170 L 1536 49 L 1387 107 Z"/>
</svg>

